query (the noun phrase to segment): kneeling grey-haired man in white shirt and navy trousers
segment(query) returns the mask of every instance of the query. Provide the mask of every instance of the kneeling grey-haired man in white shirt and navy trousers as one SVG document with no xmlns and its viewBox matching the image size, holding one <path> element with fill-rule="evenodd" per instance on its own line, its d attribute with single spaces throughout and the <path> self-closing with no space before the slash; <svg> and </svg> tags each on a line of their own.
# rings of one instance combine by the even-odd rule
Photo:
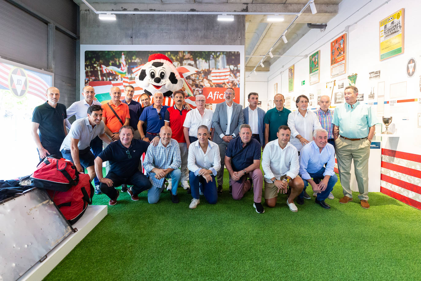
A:
<svg viewBox="0 0 421 281">
<path fill-rule="evenodd" d="M 189 208 L 195 209 L 199 200 L 199 187 L 209 204 L 216 204 L 218 194 L 216 191 L 215 176 L 221 169 L 219 147 L 210 141 L 208 126 L 200 125 L 197 129 L 198 140 L 189 147 L 187 167 L 189 168 L 190 188 L 192 190 L 192 203 Z"/>
</svg>

